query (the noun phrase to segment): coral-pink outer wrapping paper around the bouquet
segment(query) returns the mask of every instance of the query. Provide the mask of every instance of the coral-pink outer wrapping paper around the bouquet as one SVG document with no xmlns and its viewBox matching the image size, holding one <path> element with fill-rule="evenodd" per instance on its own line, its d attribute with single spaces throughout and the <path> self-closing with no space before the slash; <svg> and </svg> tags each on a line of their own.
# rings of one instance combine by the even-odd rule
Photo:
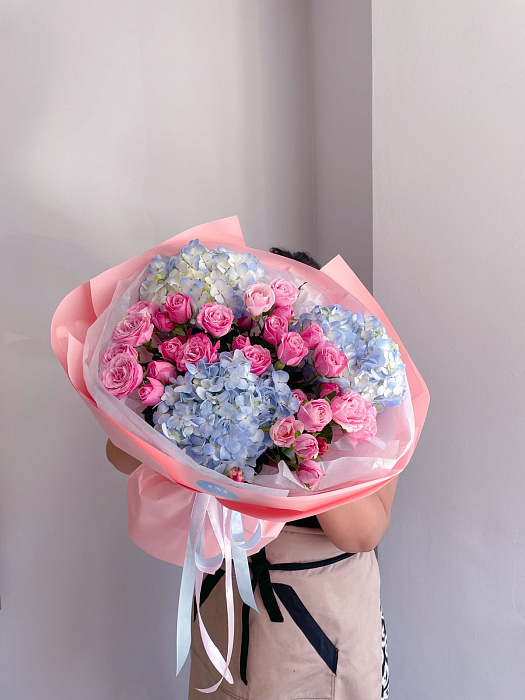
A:
<svg viewBox="0 0 525 700">
<path fill-rule="evenodd" d="M 230 250 L 249 251 L 263 265 L 279 267 L 283 258 L 266 251 L 247 248 L 244 244 L 236 216 L 196 226 L 150 250 L 101 273 L 74 289 L 59 304 L 51 324 L 51 344 L 71 383 L 95 416 L 111 441 L 139 459 L 143 464 L 130 477 L 128 483 L 128 526 L 133 541 L 160 559 L 182 565 L 188 534 L 189 513 L 194 494 L 201 492 L 198 480 L 202 474 L 181 464 L 153 445 L 126 430 L 106 415 L 90 395 L 84 378 L 83 353 L 86 333 L 92 324 L 108 308 L 119 280 L 137 273 L 157 255 L 173 254 L 173 245 L 179 250 L 190 240 L 198 238 L 209 247 L 224 245 Z M 171 246 L 171 248 L 170 248 Z M 276 496 L 243 489 L 242 485 L 228 484 L 228 497 L 217 496 L 219 503 L 243 514 L 245 539 L 255 531 L 258 519 L 262 519 L 262 539 L 248 554 L 258 551 L 278 535 L 285 521 L 315 515 L 343 505 L 377 491 L 399 474 L 410 461 L 415 450 L 429 406 L 428 389 L 383 310 L 348 267 L 336 256 L 321 271 L 302 263 L 285 259 L 288 269 L 305 280 L 322 281 L 332 303 L 340 303 L 352 311 L 368 310 L 377 315 L 388 334 L 399 345 L 406 366 L 407 380 L 412 401 L 415 436 L 407 452 L 395 467 L 380 478 L 355 483 L 326 492 L 312 492 L 304 496 Z M 355 299 L 351 299 L 350 296 Z M 355 300 L 362 303 L 359 308 Z M 213 481 L 213 475 L 210 474 Z M 204 534 L 206 556 L 217 552 L 217 543 L 208 521 Z"/>
</svg>

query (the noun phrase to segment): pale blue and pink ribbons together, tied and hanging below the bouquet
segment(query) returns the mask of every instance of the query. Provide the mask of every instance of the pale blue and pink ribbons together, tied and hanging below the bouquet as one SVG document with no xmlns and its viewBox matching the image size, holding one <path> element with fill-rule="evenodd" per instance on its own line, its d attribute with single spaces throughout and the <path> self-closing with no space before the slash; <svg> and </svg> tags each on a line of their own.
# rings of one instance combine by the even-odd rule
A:
<svg viewBox="0 0 525 700">
<path fill-rule="evenodd" d="M 206 515 L 210 520 L 213 532 L 221 549 L 220 554 L 213 557 L 204 557 L 200 553 Z M 214 692 L 224 678 L 226 678 L 228 683 L 233 683 L 233 677 L 229 670 L 234 635 L 232 561 L 235 567 L 237 587 L 243 602 L 245 605 L 260 613 L 253 596 L 246 552 L 257 545 L 261 539 L 261 535 L 262 522 L 259 519 L 254 534 L 246 542 L 244 540 L 242 516 L 239 512 L 225 508 L 213 496 L 204 493 L 196 494 L 186 542 L 186 553 L 179 594 L 179 607 L 177 611 L 177 675 L 183 667 L 190 651 L 192 603 L 195 593 L 196 615 L 199 620 L 202 642 L 210 661 L 221 674 L 221 678 L 213 686 L 209 688 L 197 688 L 197 690 L 201 692 Z M 225 561 L 225 592 L 228 618 L 226 659 L 223 658 L 219 649 L 211 639 L 200 614 L 203 572 L 208 574 L 215 573 L 221 566 L 223 559 Z"/>
</svg>

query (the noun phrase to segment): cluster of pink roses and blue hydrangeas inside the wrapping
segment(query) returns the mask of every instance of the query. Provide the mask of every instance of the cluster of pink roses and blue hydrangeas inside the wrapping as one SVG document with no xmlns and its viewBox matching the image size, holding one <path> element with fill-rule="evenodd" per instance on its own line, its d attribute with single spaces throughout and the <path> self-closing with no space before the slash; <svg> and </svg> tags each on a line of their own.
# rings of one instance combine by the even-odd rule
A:
<svg viewBox="0 0 525 700">
<path fill-rule="evenodd" d="M 311 489 L 334 438 L 373 441 L 377 414 L 403 399 L 405 366 L 377 316 L 335 304 L 297 315 L 308 282 L 266 278 L 251 253 L 198 239 L 156 255 L 99 376 L 118 399 L 136 393 L 198 464 L 254 482 L 283 461 Z"/>
</svg>

